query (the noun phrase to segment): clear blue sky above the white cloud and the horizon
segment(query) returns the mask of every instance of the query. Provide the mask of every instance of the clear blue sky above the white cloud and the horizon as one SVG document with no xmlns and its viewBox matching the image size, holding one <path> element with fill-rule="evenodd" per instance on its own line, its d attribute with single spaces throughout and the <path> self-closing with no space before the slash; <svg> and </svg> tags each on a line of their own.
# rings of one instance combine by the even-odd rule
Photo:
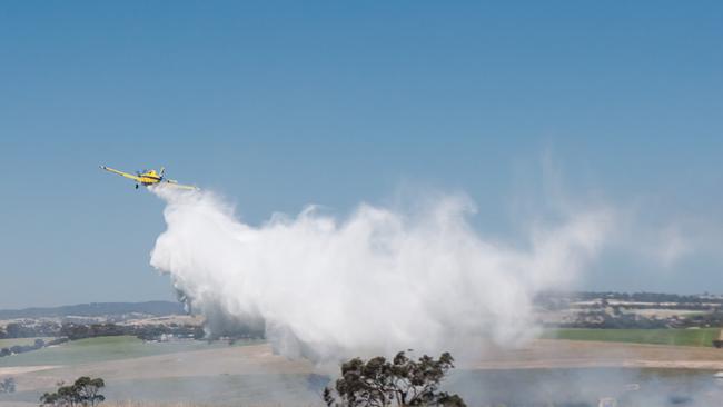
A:
<svg viewBox="0 0 723 407">
<path fill-rule="evenodd" d="M 571 191 L 706 230 L 588 288 L 723 291 L 722 43 L 719 1 L 6 1 L 0 308 L 171 298 L 162 204 L 100 163 L 165 165 L 250 222 L 465 191 L 505 236 L 545 151 Z"/>
</svg>

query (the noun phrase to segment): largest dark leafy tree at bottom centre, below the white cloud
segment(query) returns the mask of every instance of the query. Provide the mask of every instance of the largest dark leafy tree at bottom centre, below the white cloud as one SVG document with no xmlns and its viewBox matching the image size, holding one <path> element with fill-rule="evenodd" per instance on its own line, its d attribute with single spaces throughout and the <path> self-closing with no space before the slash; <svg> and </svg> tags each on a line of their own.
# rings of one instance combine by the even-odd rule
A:
<svg viewBox="0 0 723 407">
<path fill-rule="evenodd" d="M 404 351 L 392 361 L 382 356 L 368 361 L 355 358 L 341 365 L 334 389 L 324 389 L 324 401 L 328 407 L 464 407 L 462 397 L 439 389 L 452 368 L 454 358 L 448 353 L 438 359 L 424 355 L 417 361 Z"/>
</svg>

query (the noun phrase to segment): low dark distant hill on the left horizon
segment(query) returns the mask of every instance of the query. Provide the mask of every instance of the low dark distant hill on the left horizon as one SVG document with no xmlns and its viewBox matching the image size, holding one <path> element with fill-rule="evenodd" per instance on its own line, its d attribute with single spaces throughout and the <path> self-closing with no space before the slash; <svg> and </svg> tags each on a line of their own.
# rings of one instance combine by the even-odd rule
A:
<svg viewBox="0 0 723 407">
<path fill-rule="evenodd" d="M 181 304 L 171 301 L 91 302 L 61 307 L 0 310 L 0 320 L 16 318 L 61 318 L 67 316 L 100 317 L 133 312 L 155 317 L 186 314 Z"/>
</svg>

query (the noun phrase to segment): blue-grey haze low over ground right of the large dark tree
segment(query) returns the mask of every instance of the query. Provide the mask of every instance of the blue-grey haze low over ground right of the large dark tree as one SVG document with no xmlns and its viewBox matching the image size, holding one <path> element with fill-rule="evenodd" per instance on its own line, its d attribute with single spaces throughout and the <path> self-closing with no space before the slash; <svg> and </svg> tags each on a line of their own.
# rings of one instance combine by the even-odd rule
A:
<svg viewBox="0 0 723 407">
<path fill-rule="evenodd" d="M 723 396 L 710 371 L 666 369 L 459 370 L 446 387 L 476 406 L 713 407 Z"/>
</svg>

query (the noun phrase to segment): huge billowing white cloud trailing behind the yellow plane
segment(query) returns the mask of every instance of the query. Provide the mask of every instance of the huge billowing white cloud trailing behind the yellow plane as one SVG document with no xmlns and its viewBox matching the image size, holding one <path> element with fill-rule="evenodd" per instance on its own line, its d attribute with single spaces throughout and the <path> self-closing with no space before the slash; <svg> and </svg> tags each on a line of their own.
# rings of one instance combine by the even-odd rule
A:
<svg viewBox="0 0 723 407">
<path fill-rule="evenodd" d="M 210 328 L 265 321 L 277 351 L 316 361 L 518 343 L 534 326 L 534 295 L 574 281 L 613 221 L 600 207 L 570 214 L 519 249 L 483 239 L 459 196 L 416 216 L 363 204 L 336 219 L 309 207 L 255 227 L 211 192 L 153 191 L 168 229 L 151 265 Z"/>
</svg>

